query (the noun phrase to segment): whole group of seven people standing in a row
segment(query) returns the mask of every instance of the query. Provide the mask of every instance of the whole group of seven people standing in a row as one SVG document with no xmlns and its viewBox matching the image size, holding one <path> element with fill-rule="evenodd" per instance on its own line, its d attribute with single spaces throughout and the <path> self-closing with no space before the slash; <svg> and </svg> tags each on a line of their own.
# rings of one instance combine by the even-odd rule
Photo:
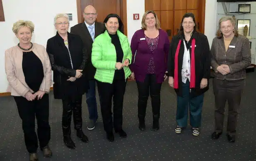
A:
<svg viewBox="0 0 256 161">
<path fill-rule="evenodd" d="M 30 161 L 38 160 L 38 140 L 43 155 L 52 156 L 48 146 L 51 137 L 48 93 L 52 84 L 54 98 L 63 103 L 63 141 L 71 149 L 75 149 L 70 135 L 72 115 L 77 137 L 88 142 L 82 131 L 83 94 L 86 94 L 89 110 L 87 128 L 95 128 L 98 119 L 96 84 L 106 138 L 114 141 L 113 127 L 120 137 L 127 137 L 122 123 L 128 78 L 136 80 L 138 86 L 140 131 L 146 128 L 149 96 L 152 131 L 159 130 L 160 91 L 162 83 L 168 79 L 169 86 L 177 94 L 175 133 L 181 133 L 188 126 L 189 111 L 192 135 L 198 136 L 203 97 L 209 89 L 210 66 L 214 71 L 215 95 L 215 131 L 211 138 L 216 140 L 222 134 L 228 101 L 227 139 L 235 142 L 237 109 L 246 77 L 245 68 L 251 64 L 251 51 L 249 40 L 238 35 L 232 17 L 220 19 L 210 49 L 207 37 L 196 30 L 192 13 L 184 14 L 179 32 L 172 37 L 171 43 L 154 11 L 147 11 L 142 16 L 142 29 L 134 33 L 131 44 L 123 34 L 123 23 L 117 14 L 107 15 L 104 23 L 95 22 L 96 9 L 89 5 L 83 16 L 85 22 L 73 26 L 69 33 L 68 16 L 57 14 L 54 18 L 57 32 L 47 41 L 46 49 L 31 42 L 34 32 L 31 21 L 20 20 L 13 25 L 19 44 L 5 51 L 7 91 L 17 103 Z"/>
</svg>

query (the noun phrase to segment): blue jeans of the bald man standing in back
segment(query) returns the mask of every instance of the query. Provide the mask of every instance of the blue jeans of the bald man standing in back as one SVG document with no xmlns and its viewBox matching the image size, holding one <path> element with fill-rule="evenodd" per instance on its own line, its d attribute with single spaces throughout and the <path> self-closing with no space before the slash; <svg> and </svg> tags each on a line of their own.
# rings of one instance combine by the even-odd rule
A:
<svg viewBox="0 0 256 161">
<path fill-rule="evenodd" d="M 94 122 L 98 119 L 96 92 L 95 92 L 96 80 L 89 80 L 89 89 L 86 93 L 86 103 L 89 111 L 89 119 Z"/>
</svg>

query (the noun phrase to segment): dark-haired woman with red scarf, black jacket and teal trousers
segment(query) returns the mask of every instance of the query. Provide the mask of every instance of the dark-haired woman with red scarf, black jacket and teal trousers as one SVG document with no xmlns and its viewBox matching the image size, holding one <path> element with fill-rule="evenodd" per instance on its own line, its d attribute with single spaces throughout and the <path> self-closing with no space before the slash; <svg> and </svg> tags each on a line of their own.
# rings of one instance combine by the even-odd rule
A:
<svg viewBox="0 0 256 161">
<path fill-rule="evenodd" d="M 195 16 L 184 14 L 179 33 L 170 44 L 169 85 L 177 93 L 175 133 L 187 126 L 188 109 L 192 134 L 200 134 L 203 94 L 209 89 L 210 47 L 207 37 L 196 31 Z"/>
</svg>

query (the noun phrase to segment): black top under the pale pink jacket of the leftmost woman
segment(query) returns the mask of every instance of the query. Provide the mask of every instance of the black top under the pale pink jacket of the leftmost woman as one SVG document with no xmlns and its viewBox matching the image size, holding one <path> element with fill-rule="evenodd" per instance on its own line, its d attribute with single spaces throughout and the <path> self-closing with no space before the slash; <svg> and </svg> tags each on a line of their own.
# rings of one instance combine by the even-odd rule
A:
<svg viewBox="0 0 256 161">
<path fill-rule="evenodd" d="M 23 52 L 22 69 L 29 88 L 39 91 L 44 77 L 43 64 L 33 51 Z"/>
</svg>

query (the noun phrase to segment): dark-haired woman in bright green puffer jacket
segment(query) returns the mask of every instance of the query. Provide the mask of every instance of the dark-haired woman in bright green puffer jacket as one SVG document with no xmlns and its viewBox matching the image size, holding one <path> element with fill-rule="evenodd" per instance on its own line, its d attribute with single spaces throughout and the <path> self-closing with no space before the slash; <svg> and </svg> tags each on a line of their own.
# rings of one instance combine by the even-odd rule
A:
<svg viewBox="0 0 256 161">
<path fill-rule="evenodd" d="M 92 65 L 97 69 L 94 78 L 97 80 L 101 104 L 101 115 L 107 139 L 114 141 L 112 121 L 112 97 L 114 129 L 122 138 L 123 131 L 123 95 L 126 81 L 131 71 L 132 52 L 128 38 L 123 34 L 123 23 L 117 14 L 109 14 L 104 20 L 106 30 L 97 36 L 92 44 Z"/>
</svg>

